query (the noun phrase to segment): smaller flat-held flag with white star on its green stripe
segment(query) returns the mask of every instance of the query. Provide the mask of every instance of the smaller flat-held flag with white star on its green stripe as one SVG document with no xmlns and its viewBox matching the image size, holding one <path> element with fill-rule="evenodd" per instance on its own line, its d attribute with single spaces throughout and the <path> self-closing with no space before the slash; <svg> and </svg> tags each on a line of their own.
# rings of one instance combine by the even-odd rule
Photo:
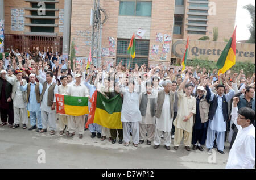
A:
<svg viewBox="0 0 256 180">
<path fill-rule="evenodd" d="M 81 116 L 89 113 L 88 97 L 55 94 L 57 113 Z"/>
</svg>

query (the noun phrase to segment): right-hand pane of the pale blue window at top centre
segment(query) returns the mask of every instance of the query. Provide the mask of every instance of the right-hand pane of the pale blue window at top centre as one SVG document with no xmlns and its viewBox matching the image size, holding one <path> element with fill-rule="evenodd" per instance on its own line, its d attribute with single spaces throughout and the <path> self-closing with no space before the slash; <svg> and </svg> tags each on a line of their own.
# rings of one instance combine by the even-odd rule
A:
<svg viewBox="0 0 256 180">
<path fill-rule="evenodd" d="M 136 2 L 136 16 L 149 16 L 151 17 L 152 2 L 150 1 L 137 1 Z"/>
</svg>

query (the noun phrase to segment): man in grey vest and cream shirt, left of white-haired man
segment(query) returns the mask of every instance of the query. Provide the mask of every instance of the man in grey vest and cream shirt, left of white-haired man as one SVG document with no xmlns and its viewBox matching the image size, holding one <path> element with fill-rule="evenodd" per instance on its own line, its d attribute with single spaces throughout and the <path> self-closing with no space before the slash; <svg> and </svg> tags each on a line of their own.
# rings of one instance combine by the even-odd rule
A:
<svg viewBox="0 0 256 180">
<path fill-rule="evenodd" d="M 151 140 L 154 138 L 155 96 L 152 93 L 152 86 L 152 82 L 146 82 L 147 91 L 139 96 L 139 111 L 142 115 L 142 121 L 139 122 L 139 144 L 143 144 L 147 139 L 147 144 L 151 145 Z"/>
</svg>

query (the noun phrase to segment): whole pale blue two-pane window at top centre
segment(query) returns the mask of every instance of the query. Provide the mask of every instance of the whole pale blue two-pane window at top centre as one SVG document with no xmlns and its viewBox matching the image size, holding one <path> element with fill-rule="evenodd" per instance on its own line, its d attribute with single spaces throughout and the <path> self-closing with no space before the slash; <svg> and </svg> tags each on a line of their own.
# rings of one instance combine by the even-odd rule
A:
<svg viewBox="0 0 256 180">
<path fill-rule="evenodd" d="M 120 1 L 119 15 L 151 17 L 152 1 Z"/>
</svg>

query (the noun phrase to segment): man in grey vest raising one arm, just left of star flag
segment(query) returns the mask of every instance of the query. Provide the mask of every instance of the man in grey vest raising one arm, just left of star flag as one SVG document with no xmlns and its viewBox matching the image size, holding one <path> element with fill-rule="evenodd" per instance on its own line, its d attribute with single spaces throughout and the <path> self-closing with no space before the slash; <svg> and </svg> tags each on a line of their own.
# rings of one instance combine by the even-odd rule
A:
<svg viewBox="0 0 256 180">
<path fill-rule="evenodd" d="M 58 86 L 53 82 L 53 73 L 46 72 L 46 81 L 42 78 L 41 74 L 38 72 L 38 67 L 36 68 L 36 78 L 43 85 L 43 90 L 40 95 L 41 102 L 41 118 L 43 129 L 38 133 L 43 133 L 47 131 L 47 125 L 49 123 L 49 129 L 51 131 L 50 135 L 55 135 L 56 130 L 56 97 L 55 94 L 58 93 Z"/>
</svg>

